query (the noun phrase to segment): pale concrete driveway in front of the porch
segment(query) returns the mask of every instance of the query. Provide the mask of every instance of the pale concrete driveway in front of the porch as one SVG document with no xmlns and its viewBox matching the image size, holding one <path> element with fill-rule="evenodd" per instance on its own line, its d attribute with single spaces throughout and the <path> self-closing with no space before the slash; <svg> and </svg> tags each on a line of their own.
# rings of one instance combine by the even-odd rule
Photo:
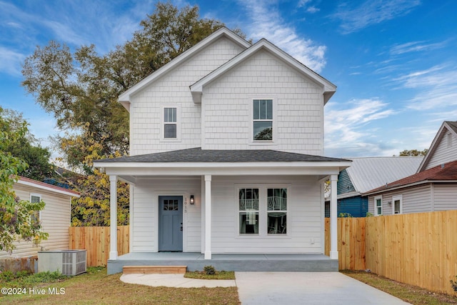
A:
<svg viewBox="0 0 457 305">
<path fill-rule="evenodd" d="M 236 272 L 243 305 L 408 304 L 338 272 Z"/>
</svg>

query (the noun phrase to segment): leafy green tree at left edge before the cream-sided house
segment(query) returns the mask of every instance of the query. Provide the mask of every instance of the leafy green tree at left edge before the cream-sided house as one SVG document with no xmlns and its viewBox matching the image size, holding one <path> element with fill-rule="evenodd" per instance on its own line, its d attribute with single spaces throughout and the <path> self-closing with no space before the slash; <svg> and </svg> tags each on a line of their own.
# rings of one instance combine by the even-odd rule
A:
<svg viewBox="0 0 457 305">
<path fill-rule="evenodd" d="M 0 107 L 0 114 L 4 110 Z M 13 130 L 11 126 L 16 126 Z M 13 156 L 6 148 L 16 144 L 27 134 L 25 121 L 17 122 L 0 115 L 0 250 L 11 252 L 16 248 L 14 241 L 26 240 L 39 244 L 47 239 L 48 234 L 41 231 L 37 218 L 34 217 L 44 202 L 31 203 L 20 200 L 14 194 L 13 186 L 19 172 L 25 171 L 24 160 Z"/>
</svg>

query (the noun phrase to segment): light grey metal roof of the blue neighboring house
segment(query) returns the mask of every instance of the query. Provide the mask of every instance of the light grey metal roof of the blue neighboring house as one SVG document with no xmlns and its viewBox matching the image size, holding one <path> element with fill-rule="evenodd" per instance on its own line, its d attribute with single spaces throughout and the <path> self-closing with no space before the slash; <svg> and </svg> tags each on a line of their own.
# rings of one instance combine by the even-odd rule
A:
<svg viewBox="0 0 457 305">
<path fill-rule="evenodd" d="M 349 178 L 360 193 L 376 189 L 379 186 L 416 174 L 422 156 L 381 156 L 364 158 L 346 158 L 352 160 L 348 167 Z"/>
</svg>

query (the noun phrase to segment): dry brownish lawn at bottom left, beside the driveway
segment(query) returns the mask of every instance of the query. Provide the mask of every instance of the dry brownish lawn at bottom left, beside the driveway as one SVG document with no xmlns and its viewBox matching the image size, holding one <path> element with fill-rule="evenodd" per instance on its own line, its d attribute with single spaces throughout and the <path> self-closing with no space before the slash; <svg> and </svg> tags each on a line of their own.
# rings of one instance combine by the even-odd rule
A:
<svg viewBox="0 0 457 305">
<path fill-rule="evenodd" d="M 236 287 L 169 288 L 127 284 L 121 274 L 106 274 L 106 268 L 88 269 L 44 289 L 64 294 L 2 296 L 0 304 L 240 304 Z"/>
</svg>

